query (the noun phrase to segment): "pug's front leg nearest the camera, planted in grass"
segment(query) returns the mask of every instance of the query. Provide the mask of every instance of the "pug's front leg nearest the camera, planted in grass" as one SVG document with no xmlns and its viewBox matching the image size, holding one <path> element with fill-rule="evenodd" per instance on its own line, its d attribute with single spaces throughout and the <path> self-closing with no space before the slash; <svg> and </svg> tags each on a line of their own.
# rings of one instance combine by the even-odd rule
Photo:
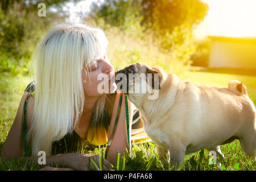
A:
<svg viewBox="0 0 256 182">
<path fill-rule="evenodd" d="M 168 148 L 170 152 L 170 167 L 174 167 L 172 170 L 175 170 L 183 164 L 186 147 L 182 144 L 177 144 L 176 146 L 170 146 Z"/>
</svg>

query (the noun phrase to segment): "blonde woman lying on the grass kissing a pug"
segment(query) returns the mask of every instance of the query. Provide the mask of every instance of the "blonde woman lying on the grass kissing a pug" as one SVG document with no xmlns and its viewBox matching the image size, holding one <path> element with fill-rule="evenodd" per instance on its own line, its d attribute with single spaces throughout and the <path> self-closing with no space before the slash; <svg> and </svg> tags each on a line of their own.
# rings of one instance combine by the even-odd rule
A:
<svg viewBox="0 0 256 182">
<path fill-rule="evenodd" d="M 36 163 L 38 152 L 45 151 L 47 166 L 64 164 L 68 168 L 63 169 L 84 170 L 90 158 L 98 162 L 99 156 L 68 152 L 79 143 L 108 143 L 106 159 L 112 164 L 117 152 L 129 150 L 130 102 L 113 81 L 103 80 L 107 93 L 98 89 L 99 75 L 114 77 L 107 45 L 104 32 L 84 24 L 60 24 L 47 33 L 36 48 L 35 81 L 22 96 L 2 158 L 26 156 Z"/>
</svg>

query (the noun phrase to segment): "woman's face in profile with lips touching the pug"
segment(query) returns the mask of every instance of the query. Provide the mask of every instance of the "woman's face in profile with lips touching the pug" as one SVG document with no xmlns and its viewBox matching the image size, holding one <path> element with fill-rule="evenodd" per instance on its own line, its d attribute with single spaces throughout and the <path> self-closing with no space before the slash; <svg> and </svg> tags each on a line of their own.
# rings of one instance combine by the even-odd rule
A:
<svg viewBox="0 0 256 182">
<path fill-rule="evenodd" d="M 106 55 L 96 60 L 96 63 L 90 62 L 82 72 L 85 96 L 91 97 L 113 93 L 117 89 L 113 78 L 114 68 Z M 104 90 L 103 93 L 102 90 Z"/>
</svg>

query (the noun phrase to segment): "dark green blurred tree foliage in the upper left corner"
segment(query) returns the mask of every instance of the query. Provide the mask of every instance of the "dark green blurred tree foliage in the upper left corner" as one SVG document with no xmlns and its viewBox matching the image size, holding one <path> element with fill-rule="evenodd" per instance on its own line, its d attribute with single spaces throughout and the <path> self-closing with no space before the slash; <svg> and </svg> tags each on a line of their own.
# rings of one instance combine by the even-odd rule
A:
<svg viewBox="0 0 256 182">
<path fill-rule="evenodd" d="M 0 1 L 0 72 L 28 71 L 36 43 L 49 27 L 65 18 L 62 6 L 67 1 Z M 38 15 L 39 3 L 46 5 L 46 16 Z"/>
</svg>

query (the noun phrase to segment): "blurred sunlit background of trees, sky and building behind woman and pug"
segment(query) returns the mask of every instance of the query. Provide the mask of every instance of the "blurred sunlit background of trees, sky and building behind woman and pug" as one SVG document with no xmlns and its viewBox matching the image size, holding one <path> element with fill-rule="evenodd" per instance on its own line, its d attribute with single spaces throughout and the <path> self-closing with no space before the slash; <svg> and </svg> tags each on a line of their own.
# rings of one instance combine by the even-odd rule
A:
<svg viewBox="0 0 256 182">
<path fill-rule="evenodd" d="M 199 85 L 240 80 L 256 103 L 255 0 L 1 0 L 0 130 L 18 109 L 36 43 L 59 23 L 104 30 L 114 68 L 159 66 Z"/>
</svg>

